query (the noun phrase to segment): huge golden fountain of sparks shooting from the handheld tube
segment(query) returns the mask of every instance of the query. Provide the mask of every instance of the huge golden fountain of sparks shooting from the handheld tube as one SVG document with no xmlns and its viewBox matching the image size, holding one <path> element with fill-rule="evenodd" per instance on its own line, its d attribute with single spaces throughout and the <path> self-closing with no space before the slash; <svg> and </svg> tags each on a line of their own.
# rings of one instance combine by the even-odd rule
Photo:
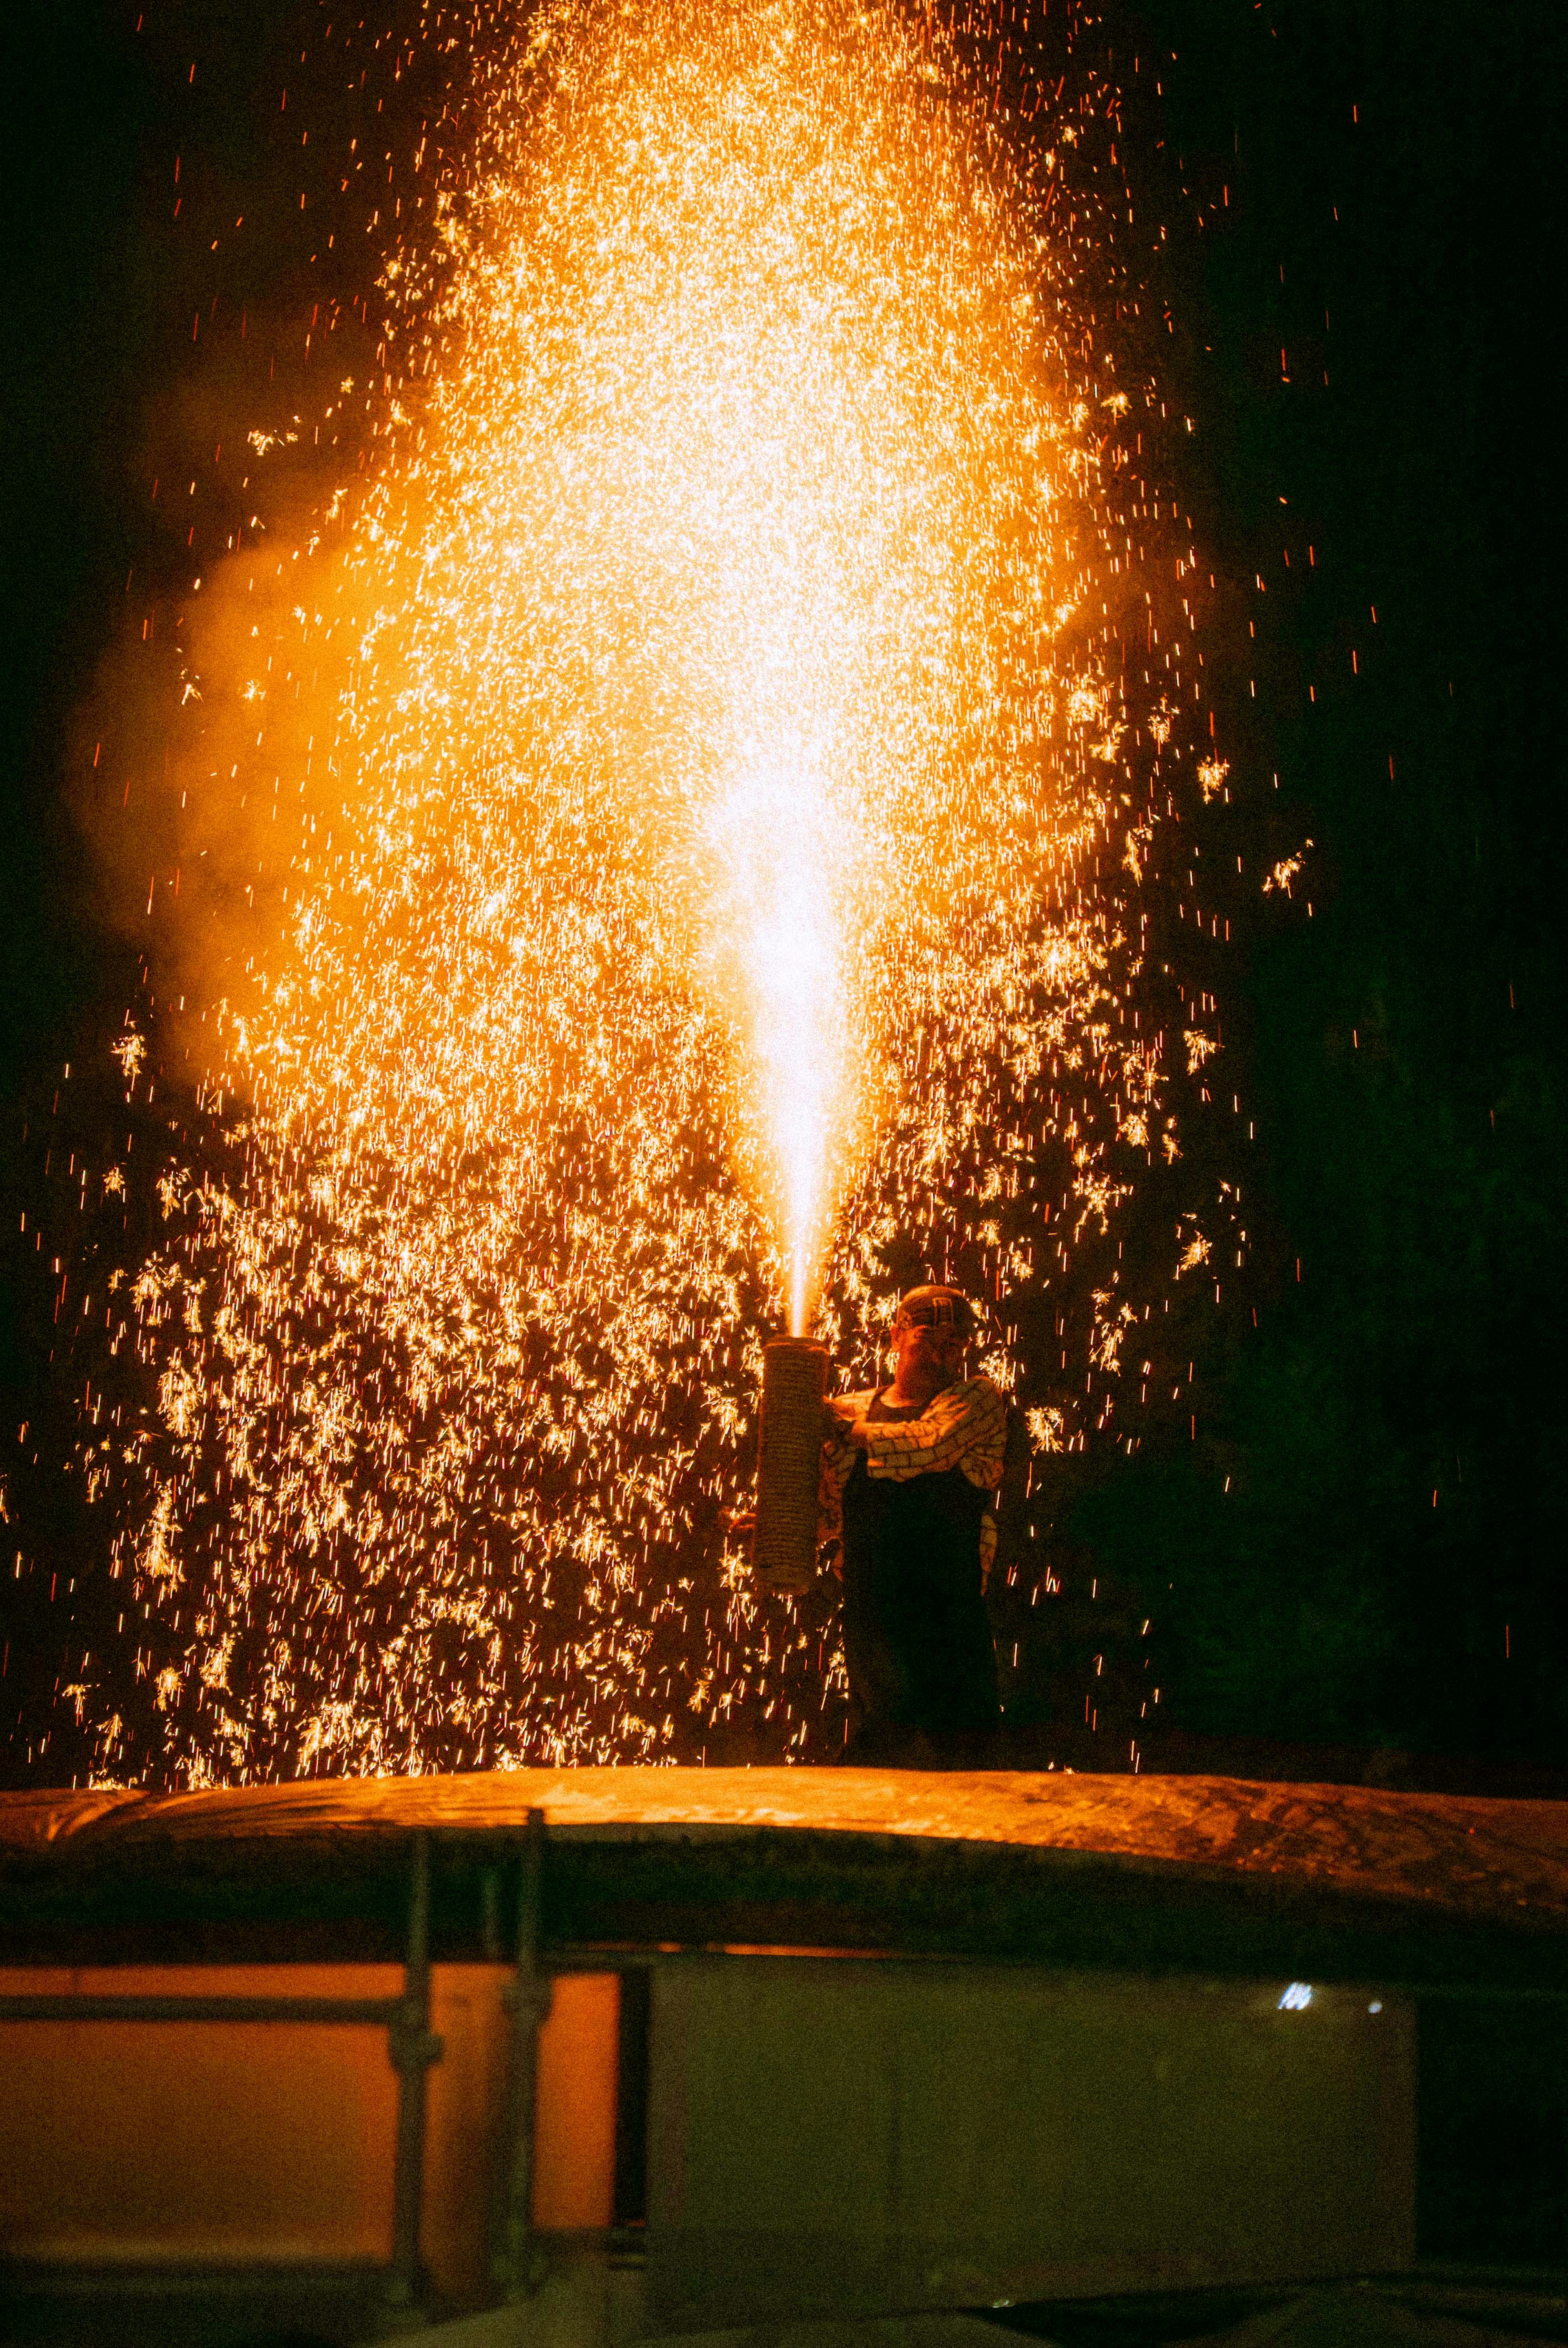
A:
<svg viewBox="0 0 1568 2348">
<path fill-rule="evenodd" d="M 721 1566 L 763 1331 L 864 1357 L 960 1188 L 988 1291 L 1042 1291 L 1176 1155 L 1122 1014 L 1181 758 L 1106 625 L 1127 402 L 988 122 L 894 7 L 538 12 L 392 265 L 369 488 L 209 580 L 228 1155 L 134 1287 L 115 1571 L 185 1627 L 108 1768 L 653 1759 L 737 1712 L 805 1752 L 815 1634 Z"/>
</svg>

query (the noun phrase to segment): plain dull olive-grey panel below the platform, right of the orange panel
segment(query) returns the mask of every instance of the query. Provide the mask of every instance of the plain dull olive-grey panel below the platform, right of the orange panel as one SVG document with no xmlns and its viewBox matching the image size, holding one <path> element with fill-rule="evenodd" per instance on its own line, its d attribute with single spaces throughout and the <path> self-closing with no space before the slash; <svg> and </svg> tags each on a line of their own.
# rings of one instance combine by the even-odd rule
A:
<svg viewBox="0 0 1568 2348">
<path fill-rule="evenodd" d="M 1350 1989 L 1282 2008 L 1286 1986 L 662 1968 L 660 2322 L 1408 2266 L 1413 2015 Z"/>
</svg>

